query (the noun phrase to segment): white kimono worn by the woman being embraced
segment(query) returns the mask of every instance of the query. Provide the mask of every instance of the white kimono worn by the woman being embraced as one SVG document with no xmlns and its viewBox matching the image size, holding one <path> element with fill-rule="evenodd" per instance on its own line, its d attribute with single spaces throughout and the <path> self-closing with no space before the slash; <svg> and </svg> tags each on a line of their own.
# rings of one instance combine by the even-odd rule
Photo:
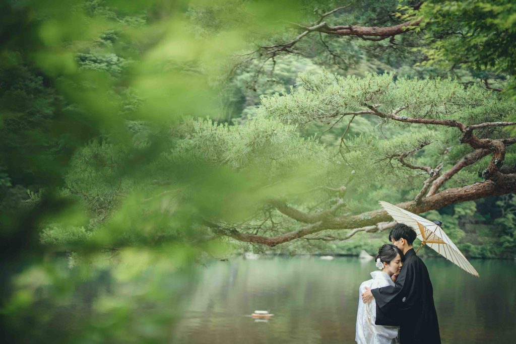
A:
<svg viewBox="0 0 516 344">
<path fill-rule="evenodd" d="M 387 273 L 382 271 L 371 272 L 372 280 L 363 282 L 360 285 L 360 294 L 358 302 L 357 327 L 355 341 L 358 344 L 391 344 L 396 343 L 398 335 L 398 326 L 381 326 L 375 325 L 376 320 L 376 302 L 373 301 L 364 304 L 362 301 L 362 293 L 365 287 L 371 289 L 394 286 L 394 282 Z"/>
</svg>

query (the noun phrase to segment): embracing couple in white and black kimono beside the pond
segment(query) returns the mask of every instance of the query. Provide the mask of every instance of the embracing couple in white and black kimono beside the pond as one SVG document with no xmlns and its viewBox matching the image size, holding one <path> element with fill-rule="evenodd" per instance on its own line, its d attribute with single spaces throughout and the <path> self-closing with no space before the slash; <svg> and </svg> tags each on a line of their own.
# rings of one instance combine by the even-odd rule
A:
<svg viewBox="0 0 516 344">
<path fill-rule="evenodd" d="M 428 270 L 412 249 L 416 232 L 402 223 L 378 250 L 372 280 L 360 285 L 358 344 L 439 344 L 439 324 Z"/>
</svg>

